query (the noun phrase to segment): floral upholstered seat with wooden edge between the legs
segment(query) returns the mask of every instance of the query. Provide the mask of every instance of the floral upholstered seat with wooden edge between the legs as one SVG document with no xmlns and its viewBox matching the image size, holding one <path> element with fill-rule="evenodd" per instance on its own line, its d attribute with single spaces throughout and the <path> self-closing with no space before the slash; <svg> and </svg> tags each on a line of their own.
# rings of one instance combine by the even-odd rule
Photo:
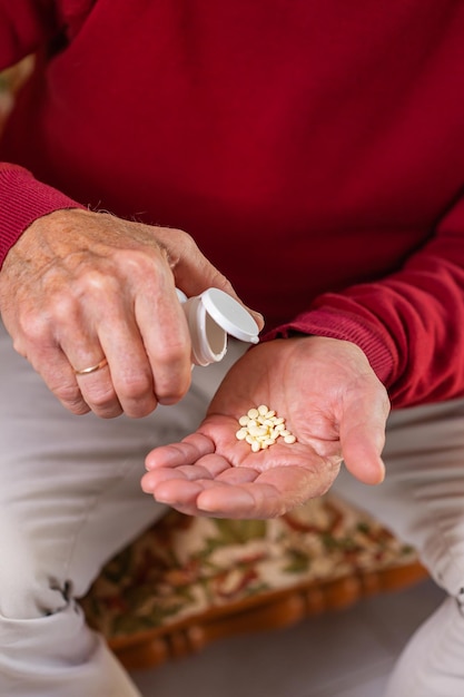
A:
<svg viewBox="0 0 464 697">
<path fill-rule="evenodd" d="M 169 511 L 107 563 L 82 607 L 121 660 L 141 667 L 424 575 L 411 547 L 326 495 L 275 520 Z"/>
</svg>

